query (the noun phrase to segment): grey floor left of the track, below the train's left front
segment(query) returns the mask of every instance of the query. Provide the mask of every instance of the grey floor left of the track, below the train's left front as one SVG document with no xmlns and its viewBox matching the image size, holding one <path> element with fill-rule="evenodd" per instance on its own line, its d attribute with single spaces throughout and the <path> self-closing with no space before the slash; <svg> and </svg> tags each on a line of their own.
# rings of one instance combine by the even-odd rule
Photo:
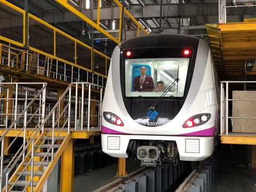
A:
<svg viewBox="0 0 256 192">
<path fill-rule="evenodd" d="M 127 173 L 131 173 L 138 170 L 140 162 L 138 161 L 127 161 L 126 163 Z M 94 191 L 112 181 L 118 179 L 116 177 L 117 164 L 111 164 L 102 167 L 97 170 L 88 171 L 83 175 L 77 175 L 74 181 L 74 191 Z"/>
</svg>

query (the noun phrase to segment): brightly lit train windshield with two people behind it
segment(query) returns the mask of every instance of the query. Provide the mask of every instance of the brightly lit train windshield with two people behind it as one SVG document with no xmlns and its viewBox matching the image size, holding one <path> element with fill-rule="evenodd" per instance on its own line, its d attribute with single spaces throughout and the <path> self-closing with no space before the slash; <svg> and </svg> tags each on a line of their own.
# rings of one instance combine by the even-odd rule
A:
<svg viewBox="0 0 256 192">
<path fill-rule="evenodd" d="M 179 78 L 164 97 L 183 97 L 189 58 L 126 59 L 126 97 L 159 97 Z"/>
</svg>

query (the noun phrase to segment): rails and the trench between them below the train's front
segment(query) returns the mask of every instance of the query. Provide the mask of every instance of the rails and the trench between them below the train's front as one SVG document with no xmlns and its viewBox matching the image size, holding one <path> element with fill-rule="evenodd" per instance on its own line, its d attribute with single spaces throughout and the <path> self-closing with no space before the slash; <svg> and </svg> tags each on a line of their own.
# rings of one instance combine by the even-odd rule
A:
<svg viewBox="0 0 256 192">
<path fill-rule="evenodd" d="M 191 170 L 191 162 L 179 161 L 168 167 L 142 167 L 93 192 L 184 192 L 210 191 L 218 160 L 209 159 Z"/>
</svg>

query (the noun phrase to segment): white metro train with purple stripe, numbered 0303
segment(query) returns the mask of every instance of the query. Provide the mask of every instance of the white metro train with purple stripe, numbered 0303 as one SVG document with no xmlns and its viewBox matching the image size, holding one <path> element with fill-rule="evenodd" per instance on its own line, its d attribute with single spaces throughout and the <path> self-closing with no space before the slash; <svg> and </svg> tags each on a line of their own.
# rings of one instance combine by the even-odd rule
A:
<svg viewBox="0 0 256 192">
<path fill-rule="evenodd" d="M 102 151 L 143 166 L 203 161 L 219 130 L 219 82 L 209 45 L 188 35 L 123 41 L 102 102 Z"/>
</svg>

